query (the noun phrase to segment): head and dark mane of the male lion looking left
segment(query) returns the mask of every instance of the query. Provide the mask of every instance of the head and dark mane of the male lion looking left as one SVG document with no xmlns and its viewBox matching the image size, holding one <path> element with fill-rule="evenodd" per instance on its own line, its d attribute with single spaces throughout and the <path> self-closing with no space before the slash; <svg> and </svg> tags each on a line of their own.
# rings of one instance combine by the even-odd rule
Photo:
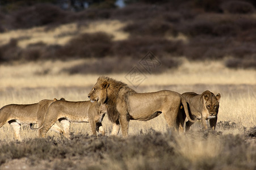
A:
<svg viewBox="0 0 256 170">
<path fill-rule="evenodd" d="M 119 120 L 119 113 L 116 110 L 117 99 L 125 100 L 125 95 L 119 94 L 121 88 L 125 88 L 125 91 L 135 92 L 123 82 L 100 76 L 88 94 L 91 102 L 96 101 L 106 105 L 108 118 L 112 122 L 118 122 Z"/>
</svg>

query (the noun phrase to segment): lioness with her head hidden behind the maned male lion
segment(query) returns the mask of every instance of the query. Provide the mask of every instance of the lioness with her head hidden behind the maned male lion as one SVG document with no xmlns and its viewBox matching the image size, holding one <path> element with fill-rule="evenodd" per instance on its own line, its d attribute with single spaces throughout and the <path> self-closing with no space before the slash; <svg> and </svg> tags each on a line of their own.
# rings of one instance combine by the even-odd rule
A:
<svg viewBox="0 0 256 170">
<path fill-rule="evenodd" d="M 59 120 L 63 130 L 60 129 L 58 133 L 69 138 L 70 122 L 89 122 L 91 134 L 96 135 L 97 130 L 104 135 L 101 122 L 105 111 L 104 105 L 90 101 L 55 101 L 48 108 L 44 124 L 39 128 L 33 128 L 31 125 L 30 128 L 39 129 L 39 136 L 45 137 L 47 131 Z"/>
</svg>

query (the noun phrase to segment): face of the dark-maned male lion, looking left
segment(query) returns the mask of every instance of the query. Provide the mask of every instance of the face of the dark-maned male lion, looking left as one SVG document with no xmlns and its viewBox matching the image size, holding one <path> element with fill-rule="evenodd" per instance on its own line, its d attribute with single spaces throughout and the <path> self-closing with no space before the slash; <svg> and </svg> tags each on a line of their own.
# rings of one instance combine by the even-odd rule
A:
<svg viewBox="0 0 256 170">
<path fill-rule="evenodd" d="M 88 94 L 88 97 L 91 102 L 97 101 L 98 103 L 105 103 L 107 99 L 107 87 L 109 83 L 108 82 L 96 82 L 90 93 Z"/>
</svg>

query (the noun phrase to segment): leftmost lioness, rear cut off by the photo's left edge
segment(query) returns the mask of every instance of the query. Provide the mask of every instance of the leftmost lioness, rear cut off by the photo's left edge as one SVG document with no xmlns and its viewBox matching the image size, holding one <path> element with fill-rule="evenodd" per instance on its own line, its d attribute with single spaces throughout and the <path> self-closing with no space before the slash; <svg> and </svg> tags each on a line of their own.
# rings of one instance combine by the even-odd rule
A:
<svg viewBox="0 0 256 170">
<path fill-rule="evenodd" d="M 61 100 L 65 100 L 61 98 Z M 34 104 L 9 104 L 5 105 L 0 109 L 0 128 L 9 122 L 9 124 L 14 129 L 15 139 L 21 141 L 20 137 L 20 127 L 21 124 L 37 124 L 41 126 L 44 121 L 45 113 L 50 104 L 52 104 L 57 99 L 53 100 L 41 100 L 39 103 Z M 58 126 L 53 127 L 58 129 Z"/>
</svg>

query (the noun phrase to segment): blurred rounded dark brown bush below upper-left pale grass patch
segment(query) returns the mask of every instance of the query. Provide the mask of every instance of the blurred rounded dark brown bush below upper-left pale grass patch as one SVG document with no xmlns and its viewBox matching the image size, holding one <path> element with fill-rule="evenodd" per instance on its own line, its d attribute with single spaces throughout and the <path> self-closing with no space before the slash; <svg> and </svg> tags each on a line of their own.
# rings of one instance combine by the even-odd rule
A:
<svg viewBox="0 0 256 170">
<path fill-rule="evenodd" d="M 84 33 L 57 52 L 60 58 L 104 57 L 112 54 L 112 36 L 104 32 Z"/>
</svg>

